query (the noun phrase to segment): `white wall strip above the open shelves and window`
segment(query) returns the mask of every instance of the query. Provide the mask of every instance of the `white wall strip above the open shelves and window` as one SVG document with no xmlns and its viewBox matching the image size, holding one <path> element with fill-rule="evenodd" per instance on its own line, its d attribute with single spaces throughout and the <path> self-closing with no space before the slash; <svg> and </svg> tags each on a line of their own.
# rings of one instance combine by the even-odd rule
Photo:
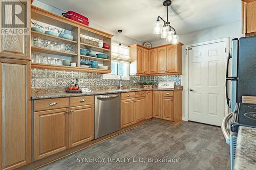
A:
<svg viewBox="0 0 256 170">
<path fill-rule="evenodd" d="M 36 6 L 38 8 L 42 8 L 44 10 L 50 11 L 52 13 L 58 14 L 58 15 L 61 15 L 61 13 L 63 13 L 63 12 L 67 12 L 67 11 L 62 11 L 61 9 L 58 9 L 56 7 L 47 5 L 45 3 L 42 3 L 38 0 L 33 1 L 32 5 Z M 90 18 L 89 18 L 89 21 L 90 21 L 90 24 L 89 24 L 90 27 L 114 35 L 114 37 L 112 38 L 112 42 L 119 44 L 119 33 L 117 32 L 117 30 L 112 31 L 112 30 L 109 30 L 107 28 L 101 27 L 101 26 L 97 25 L 97 23 L 91 21 Z M 142 41 L 138 41 L 136 39 L 126 37 L 124 35 L 121 35 L 121 43 L 122 43 L 122 45 L 131 45 L 131 44 L 136 44 L 136 43 L 137 44 L 143 44 Z"/>
</svg>

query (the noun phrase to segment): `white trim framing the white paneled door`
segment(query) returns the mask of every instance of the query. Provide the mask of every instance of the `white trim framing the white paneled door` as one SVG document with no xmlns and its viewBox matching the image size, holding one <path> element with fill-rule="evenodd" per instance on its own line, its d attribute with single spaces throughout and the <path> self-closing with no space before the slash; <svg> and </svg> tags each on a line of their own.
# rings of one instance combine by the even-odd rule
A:
<svg viewBox="0 0 256 170">
<path fill-rule="evenodd" d="M 225 42 L 225 48 L 226 48 L 226 53 L 225 53 L 225 70 L 227 69 L 227 59 L 228 59 L 228 53 L 229 53 L 229 37 L 228 38 L 222 38 L 222 39 L 217 39 L 217 40 L 212 40 L 212 41 L 205 41 L 205 42 L 200 42 L 200 43 L 195 43 L 195 44 L 190 44 L 186 45 L 185 48 L 185 117 L 183 120 L 188 121 L 188 48 L 189 47 L 195 47 L 199 45 L 207 45 L 207 44 L 212 44 L 212 43 L 218 43 L 218 42 Z M 225 80 L 224 80 L 225 81 Z M 225 93 L 225 91 L 223 91 Z M 225 101 L 226 101 L 226 95 L 225 95 Z M 225 115 L 228 113 L 228 106 L 225 104 Z"/>
</svg>

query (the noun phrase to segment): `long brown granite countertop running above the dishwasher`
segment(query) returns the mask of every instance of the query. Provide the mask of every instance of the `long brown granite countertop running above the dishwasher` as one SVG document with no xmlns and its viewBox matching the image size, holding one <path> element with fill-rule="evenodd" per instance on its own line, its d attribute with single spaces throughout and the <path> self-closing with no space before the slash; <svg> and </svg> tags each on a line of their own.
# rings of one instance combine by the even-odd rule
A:
<svg viewBox="0 0 256 170">
<path fill-rule="evenodd" d="M 67 93 L 67 92 L 59 92 L 59 93 L 36 93 L 32 94 L 32 100 L 36 99 L 52 99 L 52 98 L 69 98 L 69 97 L 76 97 L 76 96 L 87 96 L 87 95 L 100 95 L 100 94 L 113 94 L 113 93 L 123 93 L 123 92 L 133 92 L 133 91 L 147 91 L 147 90 L 182 90 L 182 86 L 177 86 L 174 89 L 163 89 L 163 88 L 153 88 L 153 89 L 127 89 L 127 90 L 94 90 L 91 93 Z"/>
</svg>

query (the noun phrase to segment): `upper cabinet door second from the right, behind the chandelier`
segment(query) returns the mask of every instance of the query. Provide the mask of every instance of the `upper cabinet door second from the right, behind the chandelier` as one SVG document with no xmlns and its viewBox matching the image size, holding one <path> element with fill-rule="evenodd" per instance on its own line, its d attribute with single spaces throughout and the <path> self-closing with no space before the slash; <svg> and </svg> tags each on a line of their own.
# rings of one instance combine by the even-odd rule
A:
<svg viewBox="0 0 256 170">
<path fill-rule="evenodd" d="M 166 72 L 166 46 L 157 48 L 158 73 Z"/>
</svg>

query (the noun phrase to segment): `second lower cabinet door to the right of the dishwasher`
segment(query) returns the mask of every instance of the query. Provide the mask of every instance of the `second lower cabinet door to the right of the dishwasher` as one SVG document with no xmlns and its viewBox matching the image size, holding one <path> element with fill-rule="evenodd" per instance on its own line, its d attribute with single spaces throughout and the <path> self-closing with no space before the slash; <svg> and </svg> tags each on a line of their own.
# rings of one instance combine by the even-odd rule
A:
<svg viewBox="0 0 256 170">
<path fill-rule="evenodd" d="M 135 123 L 146 119 L 146 97 L 135 99 Z"/>
</svg>

